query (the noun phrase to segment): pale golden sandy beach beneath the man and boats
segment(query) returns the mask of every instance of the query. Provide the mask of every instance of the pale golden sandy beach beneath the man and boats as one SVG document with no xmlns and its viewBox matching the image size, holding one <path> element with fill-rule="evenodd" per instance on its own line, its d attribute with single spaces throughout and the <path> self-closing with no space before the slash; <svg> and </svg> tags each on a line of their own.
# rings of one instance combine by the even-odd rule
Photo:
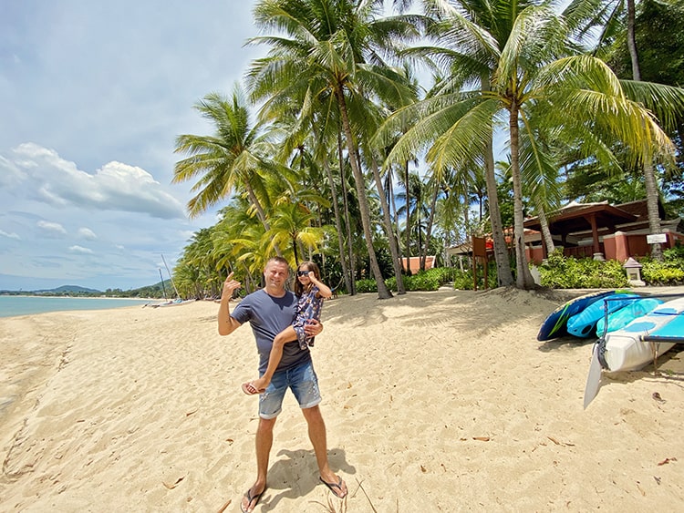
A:
<svg viewBox="0 0 684 513">
<path fill-rule="evenodd" d="M 312 351 L 349 496 L 318 483 L 289 395 L 255 511 L 679 510 L 684 347 L 658 359 L 658 375 L 604 373 L 584 410 L 593 339 L 536 340 L 574 295 L 326 302 Z M 239 511 L 257 422 L 240 384 L 257 355 L 249 326 L 217 334 L 217 309 L 0 319 L 0 509 Z"/>
</svg>

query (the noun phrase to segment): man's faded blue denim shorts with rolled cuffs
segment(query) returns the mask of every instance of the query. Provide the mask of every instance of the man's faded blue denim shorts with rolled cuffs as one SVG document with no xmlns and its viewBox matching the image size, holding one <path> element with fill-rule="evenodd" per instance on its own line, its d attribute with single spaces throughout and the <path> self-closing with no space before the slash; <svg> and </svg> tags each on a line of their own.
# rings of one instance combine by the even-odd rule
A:
<svg viewBox="0 0 684 513">
<path fill-rule="evenodd" d="M 318 390 L 318 378 L 311 360 L 298 364 L 286 371 L 278 371 L 273 375 L 270 385 L 264 394 L 259 395 L 259 416 L 275 418 L 283 409 L 285 392 L 290 388 L 295 394 L 299 407 L 313 408 L 321 402 Z"/>
</svg>

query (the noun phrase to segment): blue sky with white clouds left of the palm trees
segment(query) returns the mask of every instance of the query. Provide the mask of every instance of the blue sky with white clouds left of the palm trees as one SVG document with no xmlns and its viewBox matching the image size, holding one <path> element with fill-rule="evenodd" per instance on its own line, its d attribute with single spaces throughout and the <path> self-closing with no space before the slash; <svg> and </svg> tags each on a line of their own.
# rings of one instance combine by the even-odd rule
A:
<svg viewBox="0 0 684 513">
<path fill-rule="evenodd" d="M 194 231 L 171 185 L 192 108 L 262 51 L 254 1 L 0 2 L 0 289 L 159 281 Z M 166 272 L 164 271 L 166 276 Z"/>
</svg>

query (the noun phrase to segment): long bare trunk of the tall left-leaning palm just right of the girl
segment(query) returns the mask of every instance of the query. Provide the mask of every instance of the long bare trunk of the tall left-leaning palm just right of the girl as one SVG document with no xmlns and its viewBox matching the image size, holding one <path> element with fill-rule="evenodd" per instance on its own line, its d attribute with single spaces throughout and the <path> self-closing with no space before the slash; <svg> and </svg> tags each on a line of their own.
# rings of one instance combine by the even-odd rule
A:
<svg viewBox="0 0 684 513">
<path fill-rule="evenodd" d="M 339 105 L 340 115 L 342 116 L 342 124 L 345 128 L 345 138 L 347 139 L 347 154 L 351 170 L 354 174 L 354 182 L 357 186 L 358 194 L 358 209 L 361 212 L 361 222 L 363 224 L 364 238 L 366 239 L 366 248 L 368 249 L 368 261 L 370 262 L 370 271 L 378 285 L 378 299 L 389 299 L 392 293 L 389 292 L 385 280 L 382 278 L 380 266 L 378 265 L 378 257 L 373 248 L 373 233 L 370 230 L 370 209 L 368 208 L 368 199 L 366 198 L 366 181 L 363 178 L 361 169 L 358 167 L 356 159 L 356 149 L 354 147 L 354 139 L 351 134 L 351 125 L 347 114 L 347 103 L 345 101 L 344 93 L 340 87 L 337 87 L 335 94 L 337 96 L 337 104 Z"/>
</svg>

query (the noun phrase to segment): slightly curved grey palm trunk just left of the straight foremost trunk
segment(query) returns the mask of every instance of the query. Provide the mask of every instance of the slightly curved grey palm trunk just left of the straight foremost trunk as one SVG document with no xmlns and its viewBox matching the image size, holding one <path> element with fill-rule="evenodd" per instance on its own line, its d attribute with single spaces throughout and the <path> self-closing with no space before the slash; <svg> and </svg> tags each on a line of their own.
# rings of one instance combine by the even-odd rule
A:
<svg viewBox="0 0 684 513">
<path fill-rule="evenodd" d="M 492 89 L 488 75 L 482 77 L 482 91 Z M 496 175 L 494 174 L 494 150 L 492 135 L 487 140 L 484 148 L 484 180 L 487 184 L 487 198 L 489 199 L 489 219 L 492 223 L 492 241 L 494 244 L 494 262 L 496 263 L 496 281 L 500 287 L 513 285 L 513 273 L 511 261 L 508 258 L 508 248 L 503 237 L 503 223 L 501 210 L 499 209 L 499 192 L 496 188 Z"/>
</svg>

